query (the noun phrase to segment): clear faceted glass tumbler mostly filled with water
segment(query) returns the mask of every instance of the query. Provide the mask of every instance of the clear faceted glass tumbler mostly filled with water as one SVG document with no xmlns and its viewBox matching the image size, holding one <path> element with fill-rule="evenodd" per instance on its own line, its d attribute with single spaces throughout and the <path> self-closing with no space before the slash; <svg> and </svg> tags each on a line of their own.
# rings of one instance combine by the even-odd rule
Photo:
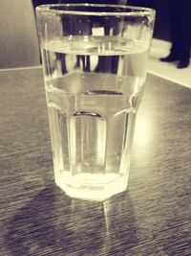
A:
<svg viewBox="0 0 191 256">
<path fill-rule="evenodd" d="M 36 9 L 56 184 L 105 200 L 127 188 L 155 11 L 119 5 Z"/>
</svg>

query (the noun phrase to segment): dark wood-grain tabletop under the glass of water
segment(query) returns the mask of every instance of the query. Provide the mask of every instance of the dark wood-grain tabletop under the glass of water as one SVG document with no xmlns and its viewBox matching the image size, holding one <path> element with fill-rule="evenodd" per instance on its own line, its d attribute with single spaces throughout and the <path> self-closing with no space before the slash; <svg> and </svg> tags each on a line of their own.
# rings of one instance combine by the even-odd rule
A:
<svg viewBox="0 0 191 256">
<path fill-rule="evenodd" d="M 0 255 L 190 256 L 191 90 L 148 75 L 127 193 L 54 185 L 41 68 L 0 72 Z"/>
</svg>

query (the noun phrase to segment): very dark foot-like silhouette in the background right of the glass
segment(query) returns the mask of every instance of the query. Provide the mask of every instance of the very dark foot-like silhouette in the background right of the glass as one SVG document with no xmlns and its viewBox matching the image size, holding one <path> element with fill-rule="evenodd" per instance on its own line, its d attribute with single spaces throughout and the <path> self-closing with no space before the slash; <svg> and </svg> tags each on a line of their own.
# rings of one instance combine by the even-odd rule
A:
<svg viewBox="0 0 191 256">
<path fill-rule="evenodd" d="M 129 0 L 128 5 L 150 7 L 157 11 L 154 37 L 172 42 L 170 54 L 160 60 L 179 61 L 178 68 L 187 67 L 191 47 L 191 1 Z"/>
</svg>

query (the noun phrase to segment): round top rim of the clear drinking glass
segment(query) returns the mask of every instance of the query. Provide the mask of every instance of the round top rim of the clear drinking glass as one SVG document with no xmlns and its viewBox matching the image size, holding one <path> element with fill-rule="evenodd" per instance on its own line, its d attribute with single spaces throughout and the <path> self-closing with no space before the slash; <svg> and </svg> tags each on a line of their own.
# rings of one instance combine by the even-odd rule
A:
<svg viewBox="0 0 191 256">
<path fill-rule="evenodd" d="M 73 11 L 73 10 L 59 10 L 53 8 L 59 7 L 97 7 L 97 8 L 113 8 L 116 12 L 93 12 L 93 11 Z M 117 12 L 120 8 L 121 11 Z M 70 15 L 93 15 L 93 16 L 145 16 L 145 15 L 155 15 L 156 11 L 147 7 L 137 7 L 137 6 L 126 6 L 126 5 L 109 5 L 109 4 L 88 4 L 88 3 L 76 3 L 76 4 L 49 4 L 49 5 L 39 5 L 35 8 L 36 12 L 52 13 L 52 14 L 70 14 Z M 125 12 L 126 10 L 126 12 Z"/>
</svg>

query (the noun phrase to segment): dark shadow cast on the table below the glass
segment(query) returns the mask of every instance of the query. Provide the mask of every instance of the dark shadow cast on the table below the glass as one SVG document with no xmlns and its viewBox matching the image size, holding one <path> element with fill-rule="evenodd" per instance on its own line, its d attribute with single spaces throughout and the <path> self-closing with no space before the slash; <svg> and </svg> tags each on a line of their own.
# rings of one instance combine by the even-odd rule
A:
<svg viewBox="0 0 191 256">
<path fill-rule="evenodd" d="M 5 240 L 11 255 L 122 255 L 137 241 L 131 200 L 75 200 L 48 187 L 9 221 Z"/>
</svg>

